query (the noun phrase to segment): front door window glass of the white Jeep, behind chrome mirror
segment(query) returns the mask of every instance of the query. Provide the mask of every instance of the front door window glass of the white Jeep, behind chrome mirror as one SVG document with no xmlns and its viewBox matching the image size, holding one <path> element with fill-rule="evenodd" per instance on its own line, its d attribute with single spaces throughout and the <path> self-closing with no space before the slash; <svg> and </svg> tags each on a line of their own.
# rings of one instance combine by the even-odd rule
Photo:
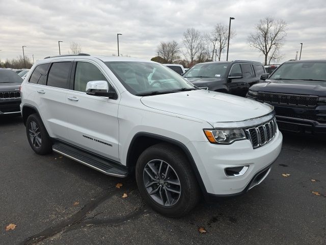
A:
<svg viewBox="0 0 326 245">
<path fill-rule="evenodd" d="M 74 90 L 85 92 L 86 84 L 89 81 L 107 82 L 107 79 L 95 65 L 88 62 L 77 62 Z M 110 90 L 112 90 L 112 88 L 110 88 Z"/>
</svg>

